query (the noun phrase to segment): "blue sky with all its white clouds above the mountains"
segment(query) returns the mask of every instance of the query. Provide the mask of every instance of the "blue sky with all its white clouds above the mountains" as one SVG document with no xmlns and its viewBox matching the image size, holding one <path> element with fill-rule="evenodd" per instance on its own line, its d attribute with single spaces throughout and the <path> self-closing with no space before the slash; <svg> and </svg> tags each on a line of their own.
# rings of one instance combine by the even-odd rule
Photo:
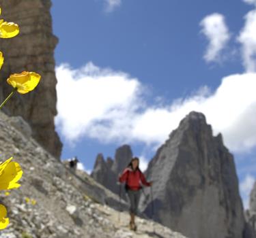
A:
<svg viewBox="0 0 256 238">
<path fill-rule="evenodd" d="M 99 152 L 113 158 L 129 143 L 145 167 L 194 109 L 223 133 L 248 203 L 256 176 L 255 6 L 53 0 L 61 157 L 76 155 L 91 170 Z"/>
</svg>

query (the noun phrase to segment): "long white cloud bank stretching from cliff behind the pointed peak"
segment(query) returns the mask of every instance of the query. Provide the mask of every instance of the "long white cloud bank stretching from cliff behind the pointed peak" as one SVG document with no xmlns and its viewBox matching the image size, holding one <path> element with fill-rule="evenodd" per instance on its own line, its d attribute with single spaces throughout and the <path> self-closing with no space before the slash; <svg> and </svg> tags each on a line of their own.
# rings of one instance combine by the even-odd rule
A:
<svg viewBox="0 0 256 238">
<path fill-rule="evenodd" d="M 57 73 L 55 122 L 69 141 L 143 142 L 156 148 L 190 111 L 203 112 L 214 135 L 222 133 L 233 152 L 256 146 L 256 73 L 229 75 L 215 92 L 203 87 L 171 105 L 147 105 L 145 86 L 126 73 L 88 63 L 61 65 Z"/>
</svg>

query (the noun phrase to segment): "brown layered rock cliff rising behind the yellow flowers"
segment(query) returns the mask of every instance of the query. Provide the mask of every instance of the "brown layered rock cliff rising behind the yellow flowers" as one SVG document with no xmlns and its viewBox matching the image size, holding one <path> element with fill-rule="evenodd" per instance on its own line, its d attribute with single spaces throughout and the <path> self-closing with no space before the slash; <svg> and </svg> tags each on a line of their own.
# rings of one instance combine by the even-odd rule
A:
<svg viewBox="0 0 256 238">
<path fill-rule="evenodd" d="M 12 88 L 5 83 L 11 73 L 35 71 L 42 80 L 35 90 L 26 95 L 14 95 L 3 108 L 5 113 L 22 116 L 31 126 L 33 137 L 48 152 L 59 158 L 61 141 L 55 132 L 57 83 L 53 57 L 57 37 L 53 35 L 50 0 L 0 0 L 1 18 L 16 22 L 20 34 L 11 39 L 0 39 L 5 63 L 0 73 L 0 99 Z"/>
</svg>

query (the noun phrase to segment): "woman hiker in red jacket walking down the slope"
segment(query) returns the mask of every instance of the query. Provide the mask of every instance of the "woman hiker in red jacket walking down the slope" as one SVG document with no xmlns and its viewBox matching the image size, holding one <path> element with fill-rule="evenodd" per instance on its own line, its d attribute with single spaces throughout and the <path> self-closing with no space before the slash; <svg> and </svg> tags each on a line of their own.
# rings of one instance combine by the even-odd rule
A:
<svg viewBox="0 0 256 238">
<path fill-rule="evenodd" d="M 152 186 L 152 182 L 147 182 L 145 179 L 139 169 L 139 158 L 137 157 L 132 158 L 122 175 L 119 175 L 118 180 L 121 183 L 126 182 L 126 191 L 130 200 L 130 229 L 136 231 L 135 215 L 137 215 L 141 183 L 145 186 Z"/>
</svg>

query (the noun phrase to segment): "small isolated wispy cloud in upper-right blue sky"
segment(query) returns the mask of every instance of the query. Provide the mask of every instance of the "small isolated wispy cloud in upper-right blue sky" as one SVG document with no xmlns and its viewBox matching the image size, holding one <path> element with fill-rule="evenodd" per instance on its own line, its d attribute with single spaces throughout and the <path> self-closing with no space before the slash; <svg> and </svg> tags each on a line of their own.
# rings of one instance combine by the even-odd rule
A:
<svg viewBox="0 0 256 238">
<path fill-rule="evenodd" d="M 203 58 L 207 62 L 220 61 L 221 51 L 230 39 L 229 29 L 223 15 L 214 13 L 201 20 L 201 32 L 208 38 L 209 44 Z"/>
</svg>

